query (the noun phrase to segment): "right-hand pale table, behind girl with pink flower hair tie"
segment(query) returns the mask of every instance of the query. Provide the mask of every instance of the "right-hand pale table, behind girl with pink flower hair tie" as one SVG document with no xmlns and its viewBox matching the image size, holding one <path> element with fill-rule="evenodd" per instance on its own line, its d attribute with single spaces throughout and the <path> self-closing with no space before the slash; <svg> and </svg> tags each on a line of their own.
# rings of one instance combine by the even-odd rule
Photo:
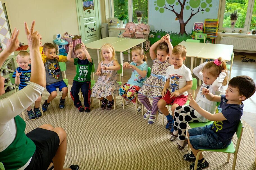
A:
<svg viewBox="0 0 256 170">
<path fill-rule="evenodd" d="M 233 53 L 233 45 L 226 44 L 205 44 L 203 49 L 198 53 L 197 58 L 201 58 L 200 64 L 203 63 L 203 59 L 215 60 L 222 57 L 226 61 L 231 60 Z M 201 86 L 201 80 L 199 79 L 199 86 Z"/>
</svg>

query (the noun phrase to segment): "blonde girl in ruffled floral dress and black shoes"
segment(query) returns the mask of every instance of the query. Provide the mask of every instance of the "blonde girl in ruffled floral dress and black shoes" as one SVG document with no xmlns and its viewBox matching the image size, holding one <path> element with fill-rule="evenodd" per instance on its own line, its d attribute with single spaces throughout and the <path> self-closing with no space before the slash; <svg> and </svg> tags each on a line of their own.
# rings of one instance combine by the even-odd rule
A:
<svg viewBox="0 0 256 170">
<path fill-rule="evenodd" d="M 101 62 L 95 75 L 98 81 L 92 88 L 92 97 L 102 101 L 101 109 L 110 110 L 114 105 L 113 96 L 118 96 L 119 84 L 117 83 L 117 70 L 121 69 L 115 57 L 115 49 L 111 44 L 101 47 Z"/>
</svg>

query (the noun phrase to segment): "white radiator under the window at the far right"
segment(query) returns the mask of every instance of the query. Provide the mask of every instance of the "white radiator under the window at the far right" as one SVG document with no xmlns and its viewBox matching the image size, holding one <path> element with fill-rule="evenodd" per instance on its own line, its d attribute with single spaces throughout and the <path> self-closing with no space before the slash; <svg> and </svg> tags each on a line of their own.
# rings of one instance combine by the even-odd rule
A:
<svg viewBox="0 0 256 170">
<path fill-rule="evenodd" d="M 256 38 L 221 37 L 221 44 L 233 45 L 234 49 L 256 51 Z"/>
</svg>

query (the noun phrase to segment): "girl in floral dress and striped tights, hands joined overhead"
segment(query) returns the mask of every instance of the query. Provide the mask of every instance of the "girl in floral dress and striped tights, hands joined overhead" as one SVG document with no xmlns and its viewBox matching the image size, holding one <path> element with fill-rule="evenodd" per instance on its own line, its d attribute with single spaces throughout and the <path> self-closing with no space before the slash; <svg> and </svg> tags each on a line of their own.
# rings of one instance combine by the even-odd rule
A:
<svg viewBox="0 0 256 170">
<path fill-rule="evenodd" d="M 155 53 L 156 49 L 157 53 Z M 169 51 L 171 51 L 172 49 L 173 46 L 170 42 L 169 34 L 163 36 L 149 49 L 149 54 L 153 61 L 151 75 L 143 83 L 144 85 L 138 92 L 139 100 L 148 110 L 143 115 L 144 119 L 148 119 L 148 124 L 155 123 L 155 117 L 158 111 L 157 102 L 162 98 L 162 90 L 166 82 L 166 70 L 171 64 L 171 60 L 168 60 L 168 57 L 170 55 Z M 153 98 L 152 105 L 150 104 L 148 97 Z"/>
</svg>

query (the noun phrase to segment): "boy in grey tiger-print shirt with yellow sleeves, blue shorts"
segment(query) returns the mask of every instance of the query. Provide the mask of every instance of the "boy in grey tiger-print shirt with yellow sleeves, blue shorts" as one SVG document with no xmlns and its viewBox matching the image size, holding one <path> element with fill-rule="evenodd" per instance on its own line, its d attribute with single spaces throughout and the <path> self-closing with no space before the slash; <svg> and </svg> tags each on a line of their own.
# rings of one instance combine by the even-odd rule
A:
<svg viewBox="0 0 256 170">
<path fill-rule="evenodd" d="M 62 72 L 60 71 L 59 62 L 66 62 L 67 57 L 63 55 L 56 55 L 55 46 L 52 43 L 45 43 L 43 47 L 40 47 L 42 53 L 42 60 L 44 62 L 46 72 L 46 90 L 50 93 L 50 96 L 42 105 L 42 110 L 45 112 L 50 102 L 57 96 L 57 90 L 62 91 L 62 97 L 60 98 L 60 108 L 65 107 L 65 98 L 68 93 L 68 88 L 62 78 Z"/>
</svg>

